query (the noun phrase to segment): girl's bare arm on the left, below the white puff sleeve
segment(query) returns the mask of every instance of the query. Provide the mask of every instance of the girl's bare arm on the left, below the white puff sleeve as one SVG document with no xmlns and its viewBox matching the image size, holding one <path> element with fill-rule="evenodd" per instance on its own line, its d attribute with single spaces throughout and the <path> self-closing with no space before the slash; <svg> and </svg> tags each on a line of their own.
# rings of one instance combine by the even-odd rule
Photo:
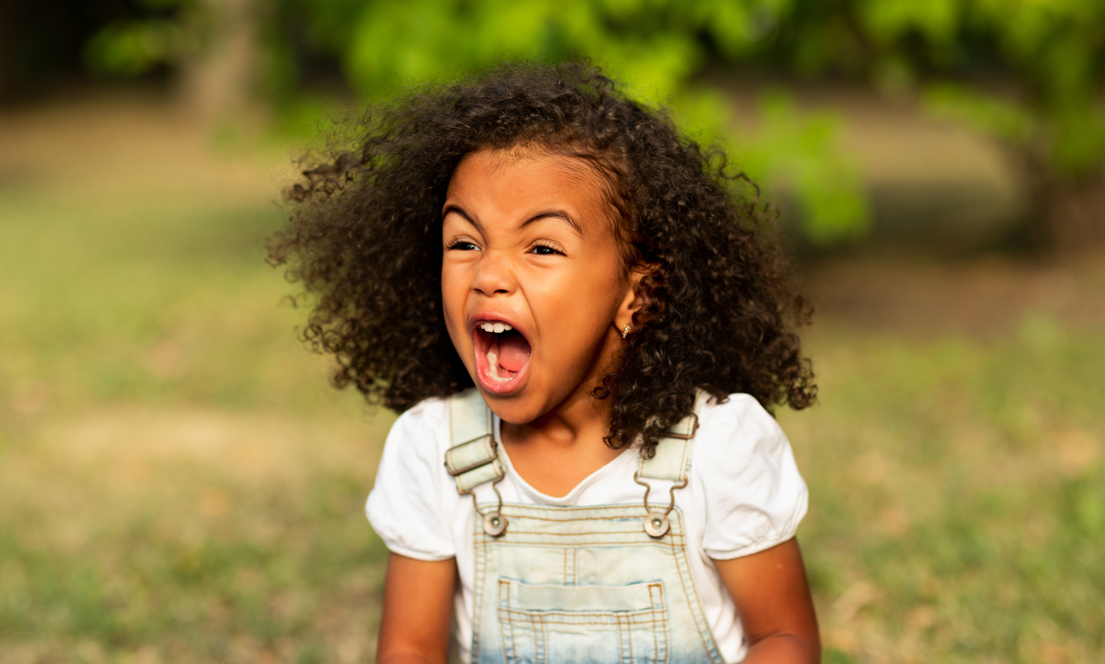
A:
<svg viewBox="0 0 1105 664">
<path fill-rule="evenodd" d="M 379 664 L 445 664 L 453 620 L 456 560 L 388 558 Z"/>
</svg>

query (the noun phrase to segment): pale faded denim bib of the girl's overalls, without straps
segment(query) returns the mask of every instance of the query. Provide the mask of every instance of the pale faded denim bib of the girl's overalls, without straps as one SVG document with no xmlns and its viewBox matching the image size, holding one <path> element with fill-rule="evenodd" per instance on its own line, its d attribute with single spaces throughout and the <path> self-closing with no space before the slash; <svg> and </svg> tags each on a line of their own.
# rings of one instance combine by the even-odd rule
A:
<svg viewBox="0 0 1105 664">
<path fill-rule="evenodd" d="M 678 507 L 655 539 L 642 528 L 643 505 L 504 504 L 502 513 L 509 526 L 497 538 L 474 519 L 473 664 L 724 664 Z"/>
</svg>

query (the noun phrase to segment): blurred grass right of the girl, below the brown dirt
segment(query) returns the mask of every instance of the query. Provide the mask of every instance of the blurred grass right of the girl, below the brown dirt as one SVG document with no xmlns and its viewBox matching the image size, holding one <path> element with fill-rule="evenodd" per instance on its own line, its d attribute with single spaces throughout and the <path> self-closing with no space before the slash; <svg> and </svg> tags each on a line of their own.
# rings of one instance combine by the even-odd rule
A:
<svg viewBox="0 0 1105 664">
<path fill-rule="evenodd" d="M 1105 335 L 814 349 L 822 402 L 782 422 L 829 661 L 1101 661 Z"/>
</svg>

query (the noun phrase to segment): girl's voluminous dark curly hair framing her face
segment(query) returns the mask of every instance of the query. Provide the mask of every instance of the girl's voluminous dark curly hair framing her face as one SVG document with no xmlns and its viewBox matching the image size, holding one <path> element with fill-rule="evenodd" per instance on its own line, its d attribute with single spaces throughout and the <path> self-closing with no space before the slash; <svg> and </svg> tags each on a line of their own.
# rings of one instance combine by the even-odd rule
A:
<svg viewBox="0 0 1105 664">
<path fill-rule="evenodd" d="M 402 412 L 473 384 L 442 314 L 445 190 L 467 152 L 527 147 L 597 168 L 625 266 L 646 273 L 638 331 L 594 390 L 612 399 L 608 445 L 640 435 L 651 456 L 696 388 L 719 400 L 746 392 L 769 410 L 815 399 L 794 331 L 810 309 L 758 189 L 598 68 L 501 65 L 373 106 L 349 127 L 285 191 L 291 222 L 270 242 L 270 262 L 315 297 L 303 334 L 336 356 L 335 386 Z"/>
</svg>

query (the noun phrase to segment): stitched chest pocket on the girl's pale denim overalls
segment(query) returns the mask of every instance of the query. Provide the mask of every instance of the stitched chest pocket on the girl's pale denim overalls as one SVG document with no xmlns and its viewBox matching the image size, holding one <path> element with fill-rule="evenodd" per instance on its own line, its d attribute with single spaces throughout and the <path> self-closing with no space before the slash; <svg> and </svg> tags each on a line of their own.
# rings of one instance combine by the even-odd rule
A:
<svg viewBox="0 0 1105 664">
<path fill-rule="evenodd" d="M 662 581 L 551 586 L 499 577 L 498 624 L 507 664 L 667 662 Z"/>
</svg>

